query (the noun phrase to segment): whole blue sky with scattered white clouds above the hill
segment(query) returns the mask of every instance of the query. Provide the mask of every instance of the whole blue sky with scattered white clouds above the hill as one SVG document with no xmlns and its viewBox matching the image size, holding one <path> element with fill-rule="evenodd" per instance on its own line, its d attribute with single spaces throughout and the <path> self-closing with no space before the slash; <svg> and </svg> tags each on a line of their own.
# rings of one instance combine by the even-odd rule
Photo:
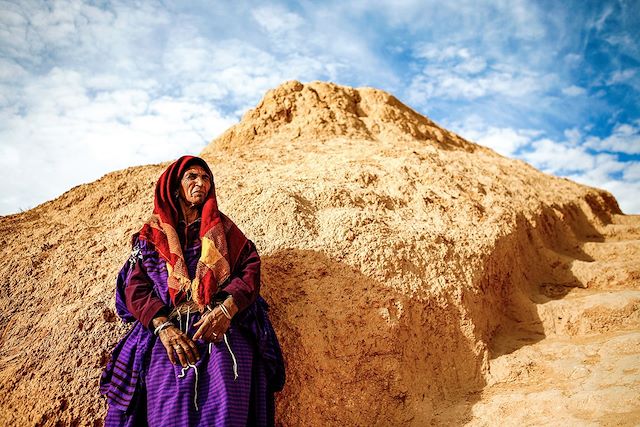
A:
<svg viewBox="0 0 640 427">
<path fill-rule="evenodd" d="M 0 0 L 0 215 L 198 153 L 280 83 L 387 90 L 640 213 L 640 2 Z"/>
</svg>

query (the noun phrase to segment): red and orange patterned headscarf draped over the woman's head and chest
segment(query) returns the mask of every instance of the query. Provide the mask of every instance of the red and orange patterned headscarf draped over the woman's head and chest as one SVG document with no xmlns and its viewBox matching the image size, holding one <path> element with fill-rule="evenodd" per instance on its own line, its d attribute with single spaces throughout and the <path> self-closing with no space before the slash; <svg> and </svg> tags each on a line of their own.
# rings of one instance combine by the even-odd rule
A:
<svg viewBox="0 0 640 427">
<path fill-rule="evenodd" d="M 176 194 L 182 175 L 194 165 L 202 166 L 209 174 L 211 189 L 201 206 L 202 249 L 195 277 L 191 280 L 176 232 L 180 212 L 180 202 Z M 209 165 L 194 156 L 180 157 L 160 176 L 156 184 L 153 215 L 140 230 L 140 239 L 153 243 L 158 254 L 167 262 L 171 301 L 175 304 L 176 298 L 188 298 L 190 295 L 200 308 L 209 304 L 229 279 L 233 264 L 247 242 L 240 229 L 218 210 L 213 174 Z"/>
</svg>

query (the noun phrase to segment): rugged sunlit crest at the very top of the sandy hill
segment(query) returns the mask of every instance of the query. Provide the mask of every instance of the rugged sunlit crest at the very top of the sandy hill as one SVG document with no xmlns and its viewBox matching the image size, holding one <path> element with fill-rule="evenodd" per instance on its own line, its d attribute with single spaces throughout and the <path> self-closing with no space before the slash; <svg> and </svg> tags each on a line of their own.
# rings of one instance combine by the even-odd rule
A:
<svg viewBox="0 0 640 427">
<path fill-rule="evenodd" d="M 240 124 L 230 128 L 202 154 L 215 156 L 215 150 L 220 148 L 251 145 L 274 136 L 289 143 L 344 137 L 396 142 L 431 140 L 437 141 L 440 148 L 477 147 L 381 90 L 291 81 L 267 92 Z"/>
</svg>

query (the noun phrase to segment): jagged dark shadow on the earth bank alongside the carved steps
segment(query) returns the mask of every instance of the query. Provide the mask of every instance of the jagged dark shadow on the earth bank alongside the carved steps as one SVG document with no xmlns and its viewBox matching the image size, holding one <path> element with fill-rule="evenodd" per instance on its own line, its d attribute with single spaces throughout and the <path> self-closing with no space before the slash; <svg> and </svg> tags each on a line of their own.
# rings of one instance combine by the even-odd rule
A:
<svg viewBox="0 0 640 427">
<path fill-rule="evenodd" d="M 620 213 L 620 209 L 608 194 L 588 196 L 580 204 L 546 206 L 533 220 L 520 215 L 513 232 L 497 240 L 477 274 L 476 285 L 462 296 L 475 325 L 476 340 L 487 348 L 488 360 L 482 367 L 485 378 L 490 374 L 491 359 L 546 338 L 538 315 L 540 304 L 586 287 L 571 266 L 575 261 L 593 261 L 582 247 L 604 240 L 594 218 L 609 224 L 612 213 Z M 459 399 L 442 411 L 436 422 L 468 421 L 481 393 L 478 389 Z"/>
</svg>

